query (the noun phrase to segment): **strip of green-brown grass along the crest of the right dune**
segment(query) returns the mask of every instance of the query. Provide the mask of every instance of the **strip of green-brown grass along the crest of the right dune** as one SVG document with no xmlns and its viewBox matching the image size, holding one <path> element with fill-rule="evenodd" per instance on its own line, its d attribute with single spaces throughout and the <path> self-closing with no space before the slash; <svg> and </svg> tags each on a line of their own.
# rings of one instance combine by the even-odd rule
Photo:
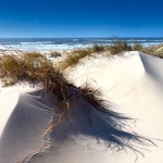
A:
<svg viewBox="0 0 163 163">
<path fill-rule="evenodd" d="M 109 57 L 122 55 L 125 51 L 141 51 L 147 54 L 163 58 L 163 46 L 145 47 L 138 41 L 128 43 L 126 40 L 116 38 L 110 46 L 95 45 L 91 48 L 75 49 L 67 53 L 67 57 L 59 63 L 60 68 L 74 67 L 83 62 L 84 58 L 93 57 L 95 53 L 108 52 Z M 55 55 L 55 52 L 54 52 Z"/>
</svg>

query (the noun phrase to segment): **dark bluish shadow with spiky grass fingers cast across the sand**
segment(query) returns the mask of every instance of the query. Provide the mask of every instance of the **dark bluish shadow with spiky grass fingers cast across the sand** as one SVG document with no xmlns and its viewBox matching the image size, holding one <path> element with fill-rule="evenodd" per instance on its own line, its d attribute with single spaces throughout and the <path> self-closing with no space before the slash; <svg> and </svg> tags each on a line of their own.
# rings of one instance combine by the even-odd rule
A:
<svg viewBox="0 0 163 163">
<path fill-rule="evenodd" d="M 135 123 L 136 120 L 110 110 L 111 104 L 106 102 L 103 109 L 95 109 L 93 104 L 86 101 L 77 89 L 75 91 L 73 91 L 72 109 L 67 116 L 49 134 L 51 150 L 57 151 L 66 142 L 77 143 L 76 140 L 88 138 L 93 140 L 93 145 L 102 146 L 103 149 L 112 152 L 130 150 L 137 160 L 139 154 L 145 156 L 142 149 L 148 150 L 148 146 L 155 146 L 149 138 L 131 130 L 129 124 Z M 60 114 L 57 106 L 53 111 Z M 53 116 L 53 123 L 57 121 L 58 117 Z"/>
</svg>

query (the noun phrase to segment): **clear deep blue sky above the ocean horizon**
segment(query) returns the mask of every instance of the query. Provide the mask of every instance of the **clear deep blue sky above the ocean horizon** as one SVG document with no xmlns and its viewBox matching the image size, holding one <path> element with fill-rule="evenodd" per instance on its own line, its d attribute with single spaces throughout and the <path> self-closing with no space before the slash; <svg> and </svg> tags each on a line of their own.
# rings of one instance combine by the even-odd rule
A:
<svg viewBox="0 0 163 163">
<path fill-rule="evenodd" d="M 0 37 L 163 37 L 163 0 L 0 0 Z"/>
</svg>

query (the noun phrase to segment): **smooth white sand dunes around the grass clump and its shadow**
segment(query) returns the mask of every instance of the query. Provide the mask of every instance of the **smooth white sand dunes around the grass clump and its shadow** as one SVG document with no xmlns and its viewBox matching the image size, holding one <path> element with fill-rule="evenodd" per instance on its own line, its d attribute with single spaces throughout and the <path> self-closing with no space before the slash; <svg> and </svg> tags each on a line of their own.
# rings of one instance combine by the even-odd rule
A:
<svg viewBox="0 0 163 163">
<path fill-rule="evenodd" d="M 137 163 L 163 162 L 163 60 L 139 52 L 125 57 L 93 59 L 71 72 L 76 86 L 85 82 L 101 88 L 112 110 L 137 118 L 130 127 L 153 140 L 154 146 L 139 148 Z M 37 88 L 15 86 L 0 88 L 0 162 L 14 163 L 42 147 L 41 136 L 49 121 L 51 106 Z M 75 121 L 73 127 L 61 123 L 51 134 L 51 148 L 32 158 L 32 163 L 133 163 L 130 150 L 116 152 L 102 140 L 106 126 L 99 113 L 93 131 Z M 83 114 L 79 113 L 82 117 Z M 85 121 L 85 118 L 84 118 Z M 138 146 L 138 145 L 135 145 Z"/>
</svg>

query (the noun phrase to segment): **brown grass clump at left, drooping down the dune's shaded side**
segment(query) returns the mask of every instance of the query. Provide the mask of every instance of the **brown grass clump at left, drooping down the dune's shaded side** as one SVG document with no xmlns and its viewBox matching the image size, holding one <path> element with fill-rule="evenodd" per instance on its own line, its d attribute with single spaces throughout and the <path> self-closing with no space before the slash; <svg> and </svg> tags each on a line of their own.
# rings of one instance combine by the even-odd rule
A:
<svg viewBox="0 0 163 163">
<path fill-rule="evenodd" d="M 4 86 L 16 84 L 21 80 L 29 83 L 39 82 L 46 91 L 54 95 L 54 103 L 60 108 L 60 121 L 66 116 L 70 109 L 68 82 L 63 72 L 55 68 L 43 55 L 25 53 L 17 55 L 4 54 L 0 60 L 0 78 Z M 49 126 L 47 134 L 51 130 Z"/>
</svg>

